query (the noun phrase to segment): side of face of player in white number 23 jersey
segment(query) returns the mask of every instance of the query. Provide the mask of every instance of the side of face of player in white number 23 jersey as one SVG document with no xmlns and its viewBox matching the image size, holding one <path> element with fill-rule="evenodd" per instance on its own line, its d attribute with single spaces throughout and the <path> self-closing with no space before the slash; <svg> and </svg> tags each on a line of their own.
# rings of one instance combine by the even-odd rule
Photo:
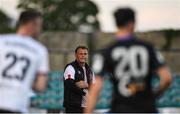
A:
<svg viewBox="0 0 180 114">
<path fill-rule="evenodd" d="M 32 20 L 29 24 L 28 24 L 28 28 L 29 31 L 32 34 L 32 37 L 37 38 L 39 36 L 39 34 L 41 33 L 41 29 L 42 29 L 42 18 L 41 17 L 37 17 L 34 20 Z"/>
</svg>

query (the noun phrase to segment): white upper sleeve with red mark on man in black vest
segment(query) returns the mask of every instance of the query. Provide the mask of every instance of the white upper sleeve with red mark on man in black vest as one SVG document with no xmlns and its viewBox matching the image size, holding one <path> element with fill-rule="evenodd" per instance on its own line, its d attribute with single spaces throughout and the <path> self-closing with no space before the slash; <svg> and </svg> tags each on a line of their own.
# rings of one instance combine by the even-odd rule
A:
<svg viewBox="0 0 180 114">
<path fill-rule="evenodd" d="M 75 79 L 75 70 L 72 65 L 68 65 L 64 71 L 64 79 Z"/>
</svg>

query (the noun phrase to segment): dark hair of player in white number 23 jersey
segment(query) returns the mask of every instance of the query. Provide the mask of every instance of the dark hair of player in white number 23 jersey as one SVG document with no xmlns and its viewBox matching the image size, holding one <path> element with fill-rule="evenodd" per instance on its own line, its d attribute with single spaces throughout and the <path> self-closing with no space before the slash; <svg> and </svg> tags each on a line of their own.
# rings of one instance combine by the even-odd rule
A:
<svg viewBox="0 0 180 114">
<path fill-rule="evenodd" d="M 42 14 L 35 10 L 27 10 L 21 12 L 19 16 L 18 25 L 23 25 L 28 23 L 29 21 L 34 20 L 35 18 L 42 17 Z"/>
</svg>

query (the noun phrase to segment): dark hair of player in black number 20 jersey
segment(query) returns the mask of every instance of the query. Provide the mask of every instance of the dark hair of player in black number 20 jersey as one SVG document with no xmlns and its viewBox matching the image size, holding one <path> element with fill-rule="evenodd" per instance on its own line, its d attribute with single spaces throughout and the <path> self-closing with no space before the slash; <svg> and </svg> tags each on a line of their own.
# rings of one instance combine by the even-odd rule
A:
<svg viewBox="0 0 180 114">
<path fill-rule="evenodd" d="M 114 12 L 114 17 L 118 27 L 126 26 L 128 22 L 135 22 L 135 12 L 131 8 L 118 9 Z"/>
</svg>

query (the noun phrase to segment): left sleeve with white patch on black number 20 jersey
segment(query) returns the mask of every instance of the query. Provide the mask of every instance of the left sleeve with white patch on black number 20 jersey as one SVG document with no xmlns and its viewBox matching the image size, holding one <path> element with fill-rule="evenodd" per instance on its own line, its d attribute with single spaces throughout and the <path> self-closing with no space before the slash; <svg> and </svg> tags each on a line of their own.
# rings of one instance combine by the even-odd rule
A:
<svg viewBox="0 0 180 114">
<path fill-rule="evenodd" d="M 109 72 L 108 70 L 108 61 L 103 52 L 95 53 L 93 55 L 93 64 L 92 68 L 95 75 L 104 77 L 105 73 Z"/>
</svg>

